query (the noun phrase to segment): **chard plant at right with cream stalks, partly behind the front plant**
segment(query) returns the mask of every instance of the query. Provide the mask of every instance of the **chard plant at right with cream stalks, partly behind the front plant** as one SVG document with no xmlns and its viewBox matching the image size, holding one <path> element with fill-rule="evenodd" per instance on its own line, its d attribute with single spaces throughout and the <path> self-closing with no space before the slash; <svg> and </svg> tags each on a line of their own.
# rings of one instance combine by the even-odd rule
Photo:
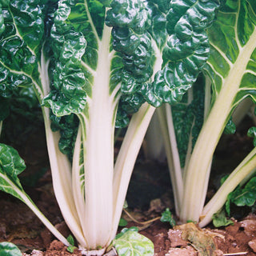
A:
<svg viewBox="0 0 256 256">
<path fill-rule="evenodd" d="M 218 141 L 223 132 L 234 133 L 235 108 L 246 98 L 256 99 L 256 2 L 222 1 L 207 33 L 210 58 L 202 76 L 180 104 L 158 109 L 177 214 L 199 226 L 206 226 L 228 194 L 256 170 L 254 148 L 204 206 Z"/>
</svg>

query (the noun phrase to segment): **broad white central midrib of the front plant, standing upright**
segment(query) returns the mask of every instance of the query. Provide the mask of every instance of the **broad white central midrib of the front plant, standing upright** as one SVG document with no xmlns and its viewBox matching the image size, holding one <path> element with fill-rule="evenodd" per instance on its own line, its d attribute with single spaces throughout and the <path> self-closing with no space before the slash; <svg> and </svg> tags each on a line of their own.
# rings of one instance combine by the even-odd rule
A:
<svg viewBox="0 0 256 256">
<path fill-rule="evenodd" d="M 98 66 L 92 95 L 88 99 L 89 119 L 83 138 L 86 178 L 86 206 L 82 229 L 90 249 L 104 247 L 113 218 L 114 98 L 110 95 L 111 29 L 104 26 L 98 42 Z"/>
</svg>

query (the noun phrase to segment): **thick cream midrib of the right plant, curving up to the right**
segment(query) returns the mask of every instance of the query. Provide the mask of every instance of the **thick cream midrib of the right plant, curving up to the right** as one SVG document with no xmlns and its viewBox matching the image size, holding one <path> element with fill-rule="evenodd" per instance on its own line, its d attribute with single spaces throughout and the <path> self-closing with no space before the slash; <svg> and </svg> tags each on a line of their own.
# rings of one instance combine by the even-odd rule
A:
<svg viewBox="0 0 256 256">
<path fill-rule="evenodd" d="M 230 66 L 229 75 L 223 79 L 222 90 L 214 103 L 210 115 L 206 119 L 199 134 L 185 180 L 185 193 L 183 198 L 182 220 L 192 219 L 198 221 L 202 211 L 202 203 L 205 194 L 200 193 L 202 187 L 206 186 L 208 175 L 205 170 L 210 166 L 211 159 L 217 146 L 218 139 L 226 124 L 232 109 L 234 98 L 238 94 L 242 76 L 245 73 L 248 60 L 255 49 L 256 30 L 251 34 L 246 46 L 238 54 L 236 62 Z M 200 191 L 200 192 L 199 192 Z M 190 198 L 194 198 L 191 200 Z"/>
</svg>

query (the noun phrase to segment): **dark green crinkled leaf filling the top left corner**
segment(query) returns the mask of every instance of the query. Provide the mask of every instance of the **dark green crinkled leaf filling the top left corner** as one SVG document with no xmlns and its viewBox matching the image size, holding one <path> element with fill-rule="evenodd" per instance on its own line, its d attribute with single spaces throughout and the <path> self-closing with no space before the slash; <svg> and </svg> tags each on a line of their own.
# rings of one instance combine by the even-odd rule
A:
<svg viewBox="0 0 256 256">
<path fill-rule="evenodd" d="M 32 83 L 42 90 L 38 62 L 49 24 L 48 9 L 52 6 L 47 2 L 2 1 L 0 23 L 4 22 L 5 30 L 0 33 L 0 94 L 3 97 L 17 86 Z"/>
</svg>

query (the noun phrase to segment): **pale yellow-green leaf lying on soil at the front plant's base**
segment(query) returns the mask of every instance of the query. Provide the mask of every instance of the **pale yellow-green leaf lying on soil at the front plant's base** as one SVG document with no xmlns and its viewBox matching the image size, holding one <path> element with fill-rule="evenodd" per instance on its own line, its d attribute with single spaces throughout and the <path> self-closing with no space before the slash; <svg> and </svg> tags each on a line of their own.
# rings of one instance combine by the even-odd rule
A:
<svg viewBox="0 0 256 256">
<path fill-rule="evenodd" d="M 138 230 L 123 229 L 113 242 L 119 256 L 153 256 L 154 244 L 149 238 L 138 234 Z"/>
</svg>

